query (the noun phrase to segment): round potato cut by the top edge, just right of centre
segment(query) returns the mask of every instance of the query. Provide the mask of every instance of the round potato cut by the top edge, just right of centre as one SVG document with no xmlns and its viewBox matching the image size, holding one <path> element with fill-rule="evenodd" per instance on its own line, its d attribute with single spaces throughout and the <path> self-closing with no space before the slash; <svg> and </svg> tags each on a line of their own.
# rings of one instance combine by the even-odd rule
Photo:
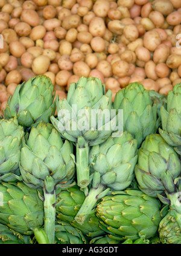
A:
<svg viewBox="0 0 181 256">
<path fill-rule="evenodd" d="M 110 3 L 108 0 L 97 0 L 93 5 L 93 12 L 96 16 L 105 18 L 107 16 L 107 12 L 109 11 Z"/>
</svg>

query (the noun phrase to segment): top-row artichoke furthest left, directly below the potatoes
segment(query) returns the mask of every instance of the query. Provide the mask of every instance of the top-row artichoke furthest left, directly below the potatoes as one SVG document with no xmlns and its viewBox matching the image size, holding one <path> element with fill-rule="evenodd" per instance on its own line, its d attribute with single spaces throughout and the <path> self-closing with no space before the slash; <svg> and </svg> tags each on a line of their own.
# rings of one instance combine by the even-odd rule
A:
<svg viewBox="0 0 181 256">
<path fill-rule="evenodd" d="M 5 106 L 5 118 L 16 116 L 25 129 L 40 121 L 49 123 L 50 116 L 56 111 L 53 89 L 51 79 L 45 75 L 34 76 L 19 84 Z"/>
</svg>

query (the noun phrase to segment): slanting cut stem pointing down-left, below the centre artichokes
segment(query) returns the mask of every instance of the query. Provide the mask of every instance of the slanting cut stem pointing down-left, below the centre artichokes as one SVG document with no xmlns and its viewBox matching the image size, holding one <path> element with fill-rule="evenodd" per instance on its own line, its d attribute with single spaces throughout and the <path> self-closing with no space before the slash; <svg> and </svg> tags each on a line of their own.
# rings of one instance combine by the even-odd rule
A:
<svg viewBox="0 0 181 256">
<path fill-rule="evenodd" d="M 100 199 L 98 197 L 101 192 L 104 191 L 105 186 L 103 184 L 99 184 L 97 188 L 91 187 L 89 194 L 85 198 L 83 204 L 81 205 L 77 215 L 75 216 L 75 221 L 79 224 L 83 224 L 86 220 L 87 216 L 91 213 L 92 209 L 94 209 L 97 201 Z"/>
</svg>

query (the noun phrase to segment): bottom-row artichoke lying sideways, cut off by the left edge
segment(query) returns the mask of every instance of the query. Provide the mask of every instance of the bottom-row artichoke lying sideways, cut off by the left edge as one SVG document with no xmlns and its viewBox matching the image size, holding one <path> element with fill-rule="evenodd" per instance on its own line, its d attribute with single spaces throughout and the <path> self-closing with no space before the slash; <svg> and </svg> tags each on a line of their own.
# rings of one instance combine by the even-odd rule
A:
<svg viewBox="0 0 181 256">
<path fill-rule="evenodd" d="M 43 203 L 37 190 L 24 183 L 0 184 L 0 223 L 20 234 L 33 234 L 43 225 Z"/>
</svg>

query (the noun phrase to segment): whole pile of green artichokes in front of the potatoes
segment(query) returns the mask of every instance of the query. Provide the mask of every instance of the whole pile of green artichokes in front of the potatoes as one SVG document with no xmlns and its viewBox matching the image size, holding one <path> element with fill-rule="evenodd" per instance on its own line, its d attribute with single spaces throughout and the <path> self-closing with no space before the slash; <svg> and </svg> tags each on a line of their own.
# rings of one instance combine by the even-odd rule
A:
<svg viewBox="0 0 181 256">
<path fill-rule="evenodd" d="M 0 120 L 0 243 L 180 244 L 180 98 L 181 84 L 132 83 L 113 103 L 99 78 L 64 99 L 44 75 L 19 84 Z"/>
</svg>

